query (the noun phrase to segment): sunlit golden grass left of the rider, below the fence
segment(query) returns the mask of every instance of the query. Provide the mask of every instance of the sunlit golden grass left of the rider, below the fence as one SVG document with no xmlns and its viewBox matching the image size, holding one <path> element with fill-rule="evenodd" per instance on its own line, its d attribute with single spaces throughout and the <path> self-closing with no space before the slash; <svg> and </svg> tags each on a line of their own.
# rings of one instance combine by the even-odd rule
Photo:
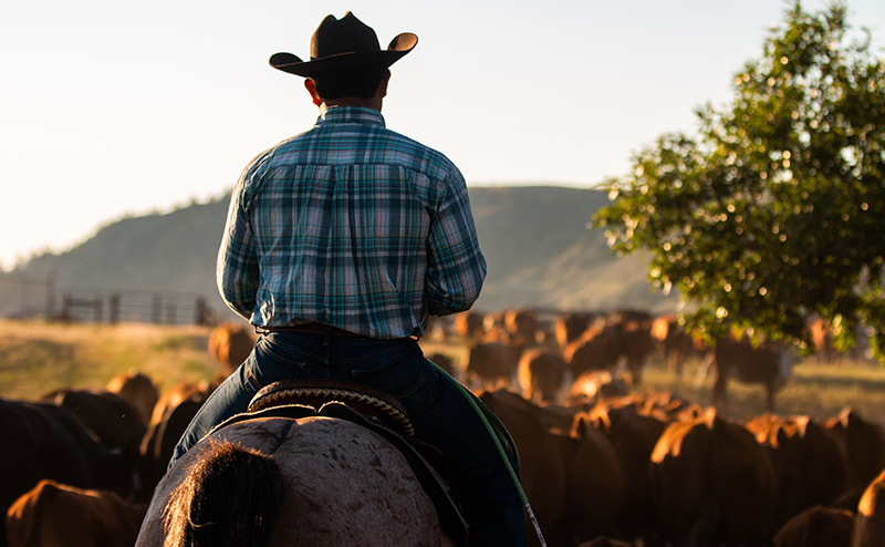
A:
<svg viewBox="0 0 885 547">
<path fill-rule="evenodd" d="M 0 320 L 0 396 L 34 400 L 62 388 L 102 389 L 137 370 L 160 390 L 209 380 L 206 327 L 60 324 Z"/>
</svg>

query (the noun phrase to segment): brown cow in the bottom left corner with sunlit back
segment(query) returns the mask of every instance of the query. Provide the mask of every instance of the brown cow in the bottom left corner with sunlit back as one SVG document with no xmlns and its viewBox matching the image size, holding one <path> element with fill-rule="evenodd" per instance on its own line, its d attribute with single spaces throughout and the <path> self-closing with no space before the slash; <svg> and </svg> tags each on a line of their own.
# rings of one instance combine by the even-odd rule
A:
<svg viewBox="0 0 885 547">
<path fill-rule="evenodd" d="M 43 479 L 7 510 L 9 547 L 132 547 L 147 504 Z"/>
</svg>

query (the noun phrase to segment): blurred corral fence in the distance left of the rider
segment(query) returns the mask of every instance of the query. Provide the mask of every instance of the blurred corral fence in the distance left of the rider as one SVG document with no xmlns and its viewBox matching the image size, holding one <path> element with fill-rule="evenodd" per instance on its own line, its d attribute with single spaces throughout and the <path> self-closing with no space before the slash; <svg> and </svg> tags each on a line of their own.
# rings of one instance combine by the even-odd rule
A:
<svg viewBox="0 0 885 547">
<path fill-rule="evenodd" d="M 206 297 L 189 292 L 56 288 L 52 277 L 0 276 L 0 312 L 8 318 L 71 322 L 211 324 Z"/>
</svg>

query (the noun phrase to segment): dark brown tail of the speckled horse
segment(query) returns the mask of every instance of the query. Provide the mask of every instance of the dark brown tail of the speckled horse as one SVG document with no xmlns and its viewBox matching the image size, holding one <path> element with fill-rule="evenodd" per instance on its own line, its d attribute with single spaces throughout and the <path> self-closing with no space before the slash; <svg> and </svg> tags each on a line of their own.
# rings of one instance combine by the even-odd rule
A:
<svg viewBox="0 0 885 547">
<path fill-rule="evenodd" d="M 164 510 L 164 547 L 268 545 L 282 498 L 270 456 L 211 441 L 173 492 Z"/>
</svg>

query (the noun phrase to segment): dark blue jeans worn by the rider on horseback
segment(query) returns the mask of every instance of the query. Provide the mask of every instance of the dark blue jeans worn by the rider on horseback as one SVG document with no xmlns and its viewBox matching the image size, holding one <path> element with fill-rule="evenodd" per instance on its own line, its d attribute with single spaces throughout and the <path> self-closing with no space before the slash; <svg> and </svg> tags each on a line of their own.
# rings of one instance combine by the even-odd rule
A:
<svg viewBox="0 0 885 547">
<path fill-rule="evenodd" d="M 412 419 L 415 437 L 439 448 L 446 460 L 470 525 L 470 545 L 525 545 L 522 500 L 491 434 L 412 339 L 263 334 L 246 362 L 212 392 L 190 422 L 173 462 L 215 425 L 244 412 L 261 388 L 302 378 L 358 382 L 399 399 Z"/>
</svg>

